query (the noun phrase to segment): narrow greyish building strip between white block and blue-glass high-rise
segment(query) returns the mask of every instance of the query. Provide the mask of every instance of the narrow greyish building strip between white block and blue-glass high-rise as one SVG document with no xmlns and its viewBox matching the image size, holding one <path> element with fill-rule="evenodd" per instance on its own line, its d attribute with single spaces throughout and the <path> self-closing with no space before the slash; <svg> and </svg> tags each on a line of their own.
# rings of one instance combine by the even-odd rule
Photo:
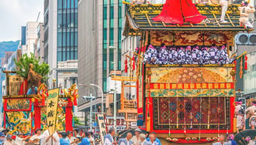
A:
<svg viewBox="0 0 256 145">
<path fill-rule="evenodd" d="M 34 45 L 34 54 L 37 59 L 40 58 L 40 64 L 43 63 L 43 57 L 44 57 L 44 47 L 43 47 L 43 23 L 39 23 L 37 25 L 37 39 Z"/>
</svg>

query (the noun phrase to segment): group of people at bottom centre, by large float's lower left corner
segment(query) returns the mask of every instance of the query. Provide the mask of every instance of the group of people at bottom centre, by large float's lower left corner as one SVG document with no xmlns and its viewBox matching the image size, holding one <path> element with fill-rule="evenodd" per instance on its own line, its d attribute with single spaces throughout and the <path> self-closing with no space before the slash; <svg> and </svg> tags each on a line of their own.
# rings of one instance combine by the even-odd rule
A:
<svg viewBox="0 0 256 145">
<path fill-rule="evenodd" d="M 155 133 L 144 134 L 140 129 L 134 130 L 135 135 L 126 133 L 126 137 L 115 140 L 115 129 L 109 129 L 109 133 L 104 137 L 104 145 L 161 145 L 161 142 L 155 136 Z"/>
</svg>

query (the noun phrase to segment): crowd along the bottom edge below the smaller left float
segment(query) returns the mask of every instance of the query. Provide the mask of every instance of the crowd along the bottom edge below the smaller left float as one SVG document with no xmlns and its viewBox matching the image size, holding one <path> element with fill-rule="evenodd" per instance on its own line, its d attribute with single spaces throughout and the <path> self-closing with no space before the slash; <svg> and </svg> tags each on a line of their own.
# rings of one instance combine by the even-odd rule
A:
<svg viewBox="0 0 256 145">
<path fill-rule="evenodd" d="M 35 130 L 34 135 L 24 137 L 19 133 L 12 137 L 9 130 L 3 129 L 0 132 L 0 145 L 95 145 L 95 138 L 92 132 L 85 132 L 79 136 L 79 130 L 74 129 L 72 132 L 55 132 L 50 135 L 49 130 Z"/>
</svg>

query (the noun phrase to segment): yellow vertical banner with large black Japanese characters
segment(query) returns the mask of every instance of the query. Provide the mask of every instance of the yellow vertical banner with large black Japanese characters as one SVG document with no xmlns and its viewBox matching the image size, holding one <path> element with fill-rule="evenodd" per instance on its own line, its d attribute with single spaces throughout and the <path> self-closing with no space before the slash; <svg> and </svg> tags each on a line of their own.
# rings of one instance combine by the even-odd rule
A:
<svg viewBox="0 0 256 145">
<path fill-rule="evenodd" d="M 47 98 L 47 126 L 50 135 L 55 132 L 56 118 L 57 118 L 57 103 L 59 98 L 59 89 L 48 90 L 49 96 Z"/>
</svg>

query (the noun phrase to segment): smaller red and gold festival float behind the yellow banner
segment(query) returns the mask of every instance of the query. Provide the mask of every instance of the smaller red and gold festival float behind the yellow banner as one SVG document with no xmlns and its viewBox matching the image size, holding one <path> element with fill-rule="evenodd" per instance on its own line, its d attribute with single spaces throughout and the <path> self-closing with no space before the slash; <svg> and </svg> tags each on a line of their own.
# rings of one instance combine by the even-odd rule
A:
<svg viewBox="0 0 256 145">
<path fill-rule="evenodd" d="M 30 67 L 31 64 L 29 64 Z M 48 89 L 40 83 L 41 76 L 29 69 L 28 77 L 23 78 L 15 71 L 3 71 L 6 75 L 6 96 L 3 96 L 5 129 L 17 135 L 29 136 L 36 129 L 47 130 Z M 74 127 L 73 110 L 77 105 L 76 84 L 69 89 L 59 89 L 57 101 L 56 130 L 72 131 Z M 55 117 L 54 117 L 55 118 Z"/>
</svg>

